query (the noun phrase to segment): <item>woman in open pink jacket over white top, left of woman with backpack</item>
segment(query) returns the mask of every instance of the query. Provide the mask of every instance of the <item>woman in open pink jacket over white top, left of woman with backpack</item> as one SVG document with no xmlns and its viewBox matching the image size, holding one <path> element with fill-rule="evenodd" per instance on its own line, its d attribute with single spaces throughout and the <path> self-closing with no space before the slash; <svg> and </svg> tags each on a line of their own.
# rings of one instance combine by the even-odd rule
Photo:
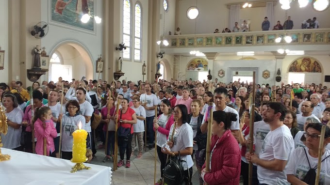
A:
<svg viewBox="0 0 330 185">
<path fill-rule="evenodd" d="M 157 154 L 161 161 L 161 179 L 158 180 L 156 185 L 162 185 L 163 183 L 163 170 L 165 168 L 167 155 L 162 153 L 162 147 L 166 144 L 168 139 L 169 130 L 174 123 L 172 114 L 171 102 L 167 99 L 161 101 L 160 105 L 163 114 L 159 115 L 158 118 L 153 120 L 154 130 L 157 130 Z"/>
</svg>

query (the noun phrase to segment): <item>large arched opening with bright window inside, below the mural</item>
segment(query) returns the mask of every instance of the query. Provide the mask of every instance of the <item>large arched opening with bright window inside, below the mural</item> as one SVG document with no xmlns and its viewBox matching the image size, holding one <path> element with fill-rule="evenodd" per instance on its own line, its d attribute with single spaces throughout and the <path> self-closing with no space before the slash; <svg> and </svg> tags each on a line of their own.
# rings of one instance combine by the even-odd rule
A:
<svg viewBox="0 0 330 185">
<path fill-rule="evenodd" d="M 81 44 L 60 43 L 50 54 L 48 81 L 56 82 L 58 77 L 69 82 L 72 78 L 94 79 L 94 63 L 89 52 Z"/>
</svg>

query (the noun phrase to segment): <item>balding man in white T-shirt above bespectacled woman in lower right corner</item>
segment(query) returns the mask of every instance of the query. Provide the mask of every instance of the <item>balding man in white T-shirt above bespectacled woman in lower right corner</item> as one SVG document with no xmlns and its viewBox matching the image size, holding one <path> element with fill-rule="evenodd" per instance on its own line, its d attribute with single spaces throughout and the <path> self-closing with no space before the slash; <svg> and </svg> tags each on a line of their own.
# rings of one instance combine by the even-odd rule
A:
<svg viewBox="0 0 330 185">
<path fill-rule="evenodd" d="M 297 114 L 297 123 L 300 131 L 304 131 L 304 124 L 306 123 L 307 118 L 315 118 L 320 121 L 312 111 L 314 109 L 314 105 L 310 101 L 304 101 L 301 106 L 301 113 Z"/>
</svg>

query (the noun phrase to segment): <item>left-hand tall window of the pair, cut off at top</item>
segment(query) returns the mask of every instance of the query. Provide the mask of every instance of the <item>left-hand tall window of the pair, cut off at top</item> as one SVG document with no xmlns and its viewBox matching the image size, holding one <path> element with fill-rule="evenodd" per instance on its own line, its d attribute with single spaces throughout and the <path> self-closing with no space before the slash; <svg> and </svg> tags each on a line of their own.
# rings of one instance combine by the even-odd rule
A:
<svg viewBox="0 0 330 185">
<path fill-rule="evenodd" d="M 131 2 L 124 0 L 123 8 L 123 43 L 126 46 L 123 52 L 124 59 L 131 59 Z"/>
</svg>

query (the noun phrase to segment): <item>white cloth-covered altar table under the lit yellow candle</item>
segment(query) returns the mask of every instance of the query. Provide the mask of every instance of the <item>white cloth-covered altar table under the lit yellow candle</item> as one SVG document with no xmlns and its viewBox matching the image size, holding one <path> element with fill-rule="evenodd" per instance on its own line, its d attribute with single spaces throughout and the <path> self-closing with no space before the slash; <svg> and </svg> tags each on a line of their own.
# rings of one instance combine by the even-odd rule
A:
<svg viewBox="0 0 330 185">
<path fill-rule="evenodd" d="M 49 156 L 1 148 L 11 155 L 0 162 L 0 185 L 110 185 L 111 168 L 86 164 L 90 170 L 70 173 L 75 163 Z"/>
</svg>

